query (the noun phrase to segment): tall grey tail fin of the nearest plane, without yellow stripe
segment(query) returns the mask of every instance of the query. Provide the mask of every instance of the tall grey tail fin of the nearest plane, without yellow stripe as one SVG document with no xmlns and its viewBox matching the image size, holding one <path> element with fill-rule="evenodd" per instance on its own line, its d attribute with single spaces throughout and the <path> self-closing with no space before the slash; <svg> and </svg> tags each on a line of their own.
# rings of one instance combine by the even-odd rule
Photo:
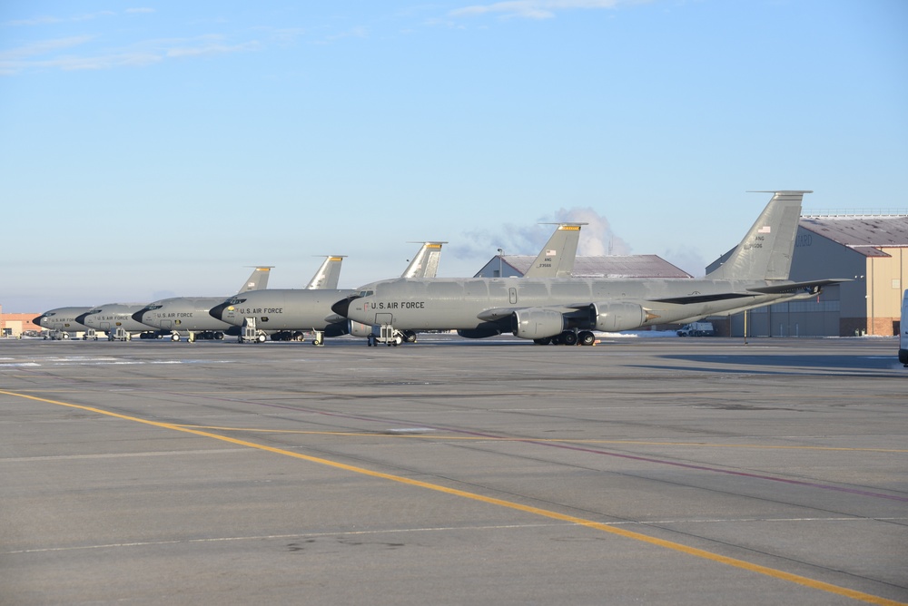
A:
<svg viewBox="0 0 908 606">
<path fill-rule="evenodd" d="M 766 208 L 735 247 L 728 259 L 707 279 L 788 279 L 795 235 L 801 218 L 801 200 L 813 191 L 765 191 L 772 193 Z"/>
</svg>

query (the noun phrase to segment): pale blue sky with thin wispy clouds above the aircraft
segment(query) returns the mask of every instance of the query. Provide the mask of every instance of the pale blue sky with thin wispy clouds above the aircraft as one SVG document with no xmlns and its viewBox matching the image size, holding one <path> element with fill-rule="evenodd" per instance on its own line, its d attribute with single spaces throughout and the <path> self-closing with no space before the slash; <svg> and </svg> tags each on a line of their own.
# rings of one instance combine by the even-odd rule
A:
<svg viewBox="0 0 908 606">
<path fill-rule="evenodd" d="M 901 0 L 5 2 L 0 305 L 439 276 L 550 227 L 695 275 L 769 199 L 908 208 Z"/>
</svg>

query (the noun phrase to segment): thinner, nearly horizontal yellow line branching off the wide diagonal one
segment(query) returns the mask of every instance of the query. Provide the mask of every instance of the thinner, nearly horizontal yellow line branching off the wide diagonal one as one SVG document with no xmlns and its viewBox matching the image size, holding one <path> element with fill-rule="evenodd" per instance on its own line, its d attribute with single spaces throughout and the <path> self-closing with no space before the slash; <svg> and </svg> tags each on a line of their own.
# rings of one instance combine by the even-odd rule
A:
<svg viewBox="0 0 908 606">
<path fill-rule="evenodd" d="M 484 442 L 540 442 L 552 444 L 617 444 L 617 445 L 644 445 L 644 446 L 696 446 L 698 448 L 762 448 L 769 450 L 838 450 L 857 453 L 908 453 L 908 449 L 899 448 L 845 448 L 844 446 L 773 446 L 758 444 L 705 444 L 703 442 L 647 442 L 645 440 L 575 440 L 568 438 L 536 438 L 536 437 L 497 437 L 494 435 L 447 435 L 435 434 L 395 434 L 392 432 L 344 432 L 344 431 L 306 431 L 301 429 L 262 429 L 261 427 L 224 427 L 219 425 L 178 425 L 192 429 L 214 429 L 217 431 L 242 431 L 245 433 L 260 434 L 301 434 L 301 435 L 343 435 L 353 437 L 390 437 L 410 438 L 422 440 L 470 440 Z M 431 429 L 431 427 L 427 428 Z M 440 432 L 440 430 L 439 430 Z"/>
</svg>

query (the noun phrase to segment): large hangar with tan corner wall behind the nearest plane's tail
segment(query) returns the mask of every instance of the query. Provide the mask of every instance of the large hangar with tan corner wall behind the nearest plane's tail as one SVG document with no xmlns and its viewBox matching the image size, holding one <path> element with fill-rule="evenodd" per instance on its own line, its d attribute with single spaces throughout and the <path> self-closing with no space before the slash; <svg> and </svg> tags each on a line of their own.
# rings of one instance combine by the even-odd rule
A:
<svg viewBox="0 0 908 606">
<path fill-rule="evenodd" d="M 898 335 L 903 285 L 908 284 L 908 212 L 802 216 L 790 277 L 852 281 L 826 287 L 817 298 L 748 311 L 748 336 Z M 736 314 L 727 318 L 723 333 L 743 337 L 744 328 L 744 314 Z"/>
</svg>

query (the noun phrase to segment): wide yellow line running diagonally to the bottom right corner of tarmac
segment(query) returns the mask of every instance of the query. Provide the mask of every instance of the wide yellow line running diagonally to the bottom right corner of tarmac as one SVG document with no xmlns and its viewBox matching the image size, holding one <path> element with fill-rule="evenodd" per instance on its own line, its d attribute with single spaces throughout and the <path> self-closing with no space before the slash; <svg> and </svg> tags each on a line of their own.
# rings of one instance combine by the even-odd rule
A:
<svg viewBox="0 0 908 606">
<path fill-rule="evenodd" d="M 804 587 L 809 587 L 811 589 L 819 591 L 827 591 L 829 593 L 834 593 L 835 595 L 841 595 L 846 598 L 852 598 L 858 601 L 864 601 L 869 604 L 881 604 L 883 606 L 908 606 L 908 602 L 900 602 L 887 600 L 880 596 L 871 595 L 869 593 L 864 593 L 863 591 L 854 591 L 847 589 L 845 587 L 839 587 L 838 585 L 833 585 L 832 583 L 817 581 L 815 579 L 809 579 L 798 574 L 792 574 L 791 572 L 785 572 L 776 570 L 775 568 L 769 568 L 768 566 L 762 566 L 760 564 L 755 564 L 752 562 L 745 562 L 744 560 L 738 560 L 736 558 L 730 558 L 725 555 L 720 555 L 718 553 L 707 552 L 703 549 L 697 549 L 696 547 L 688 547 L 679 542 L 665 541 L 663 539 L 657 539 L 656 537 L 647 536 L 642 533 L 634 533 L 632 531 L 625 530 L 623 528 L 617 528 L 616 526 L 609 526 L 605 523 L 594 522 L 592 520 L 587 520 L 584 518 L 578 518 L 574 515 L 568 515 L 565 513 L 552 512 L 547 509 L 541 509 L 539 507 L 533 507 L 530 505 L 524 505 L 521 503 L 514 503 L 512 501 L 505 501 L 503 499 L 497 499 L 495 497 L 484 496 L 482 494 L 468 493 L 467 491 L 459 490 L 457 488 L 449 488 L 448 486 L 442 486 L 441 484 L 430 484 L 429 482 L 422 482 L 420 480 L 413 480 L 408 477 L 403 477 L 402 475 L 393 475 L 393 474 L 384 474 L 381 472 L 372 471 L 364 467 L 357 467 L 355 465 L 349 465 L 344 463 L 339 463 L 338 461 L 331 461 L 330 459 L 322 459 L 317 456 L 311 456 L 309 454 L 294 453 L 290 450 L 284 450 L 282 448 L 275 448 L 273 446 L 267 446 L 262 444 L 256 444 L 254 442 L 247 442 L 245 440 L 239 440 L 227 435 L 217 435 L 204 432 L 198 429 L 192 429 L 190 427 L 184 427 L 181 425 L 173 425 L 172 423 L 162 423 L 160 421 L 151 421 L 148 419 L 139 418 L 137 416 L 121 415 L 119 413 L 114 413 L 109 410 L 104 410 L 102 408 L 95 408 L 94 406 L 82 406 L 78 404 L 70 404 L 68 402 L 59 402 L 57 400 L 48 400 L 43 397 L 35 396 L 26 396 L 25 394 L 17 394 L 15 392 L 3 391 L 0 390 L 0 394 L 5 396 L 16 396 L 24 397 L 25 399 L 35 400 L 37 402 L 45 402 L 47 404 L 54 404 L 57 406 L 66 406 L 68 408 L 77 408 L 79 410 L 84 410 L 87 412 L 97 413 L 98 415 L 113 416 L 114 418 L 123 419 L 125 421 L 133 421 L 135 423 L 142 423 L 144 425 L 153 425 L 155 427 L 161 427 L 163 429 L 171 429 L 173 431 L 183 432 L 186 434 L 192 435 L 201 435 L 202 437 L 210 437 L 214 440 L 221 440 L 222 442 L 228 442 L 230 444 L 248 446 L 250 448 L 255 448 L 257 450 L 262 450 L 265 452 L 273 454 L 283 454 L 284 456 L 290 456 L 295 459 L 301 459 L 303 461 L 309 461 L 310 463 L 317 463 L 321 465 L 327 465 L 329 467 L 334 467 L 336 469 L 342 469 L 344 471 L 352 472 L 354 474 L 368 475 L 374 478 L 380 478 L 382 480 L 390 480 L 391 482 L 398 482 L 400 484 L 407 484 L 410 486 L 416 486 L 419 488 L 426 488 L 428 490 L 436 491 L 444 494 L 451 494 L 454 496 L 460 496 L 465 499 L 470 499 L 473 501 L 479 501 L 480 503 L 489 503 L 492 505 L 498 505 L 499 507 L 507 507 L 508 509 L 513 509 L 518 512 L 531 513 L 534 515 L 539 515 L 542 517 L 549 518 L 551 520 L 559 520 L 561 522 L 573 523 L 580 526 L 586 526 L 587 528 L 592 528 L 604 533 L 617 534 L 618 536 L 623 536 L 627 539 L 634 539 L 635 541 L 646 542 L 651 545 L 656 545 L 663 547 L 665 549 L 670 549 L 676 552 L 686 553 L 688 555 L 694 555 L 698 558 L 703 558 L 704 560 L 710 560 L 712 562 L 719 562 L 727 564 L 729 566 L 734 566 L 745 571 L 757 572 L 759 574 L 765 574 L 766 576 L 772 577 L 774 579 L 779 579 L 782 581 L 794 582 L 798 585 L 803 585 Z"/>
</svg>

